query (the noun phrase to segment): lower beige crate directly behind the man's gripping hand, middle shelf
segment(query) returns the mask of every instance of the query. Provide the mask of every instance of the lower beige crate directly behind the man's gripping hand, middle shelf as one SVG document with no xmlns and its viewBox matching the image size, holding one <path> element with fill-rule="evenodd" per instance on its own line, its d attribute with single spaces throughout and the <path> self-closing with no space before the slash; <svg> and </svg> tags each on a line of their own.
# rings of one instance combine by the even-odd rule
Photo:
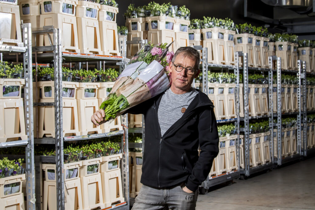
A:
<svg viewBox="0 0 315 210">
<path fill-rule="evenodd" d="M 102 133 L 99 126 L 91 123 L 91 116 L 99 110 L 98 99 L 77 99 L 79 131 L 81 135 Z"/>
</svg>

